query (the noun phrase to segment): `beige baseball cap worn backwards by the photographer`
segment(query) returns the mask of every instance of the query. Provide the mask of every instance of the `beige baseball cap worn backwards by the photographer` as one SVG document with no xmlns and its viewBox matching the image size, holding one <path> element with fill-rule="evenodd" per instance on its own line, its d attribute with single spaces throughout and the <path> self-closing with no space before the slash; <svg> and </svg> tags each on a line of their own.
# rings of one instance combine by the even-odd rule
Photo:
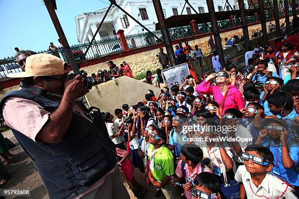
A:
<svg viewBox="0 0 299 199">
<path fill-rule="evenodd" d="M 25 72 L 7 74 L 8 78 L 28 78 L 34 76 L 53 76 L 68 73 L 65 62 L 51 54 L 36 54 L 26 58 Z"/>
</svg>

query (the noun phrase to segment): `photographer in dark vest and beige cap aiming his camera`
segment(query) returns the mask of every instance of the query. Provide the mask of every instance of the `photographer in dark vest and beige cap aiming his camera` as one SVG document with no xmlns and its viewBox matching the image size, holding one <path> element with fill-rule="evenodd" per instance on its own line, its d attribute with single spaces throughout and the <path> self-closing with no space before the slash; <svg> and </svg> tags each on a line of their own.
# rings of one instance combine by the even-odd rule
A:
<svg viewBox="0 0 299 199">
<path fill-rule="evenodd" d="M 25 72 L 8 75 L 24 83 L 1 100 L 2 118 L 33 160 L 50 198 L 128 198 L 105 124 L 91 120 L 76 103 L 88 92 L 85 80 L 81 75 L 70 80 L 66 67 L 50 54 L 27 57 Z"/>
</svg>

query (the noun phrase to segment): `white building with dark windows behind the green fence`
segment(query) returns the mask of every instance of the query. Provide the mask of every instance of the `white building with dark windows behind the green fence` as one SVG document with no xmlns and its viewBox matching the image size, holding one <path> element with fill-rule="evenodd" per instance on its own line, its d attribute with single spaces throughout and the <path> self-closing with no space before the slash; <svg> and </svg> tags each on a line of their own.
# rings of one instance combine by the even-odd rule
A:
<svg viewBox="0 0 299 199">
<path fill-rule="evenodd" d="M 154 6 L 151 0 L 116 0 L 117 4 L 126 10 L 132 17 L 140 21 L 150 31 L 155 30 L 155 23 L 157 23 L 157 17 L 154 10 Z M 189 0 L 190 4 L 197 10 L 198 13 L 208 12 L 206 0 Z M 225 0 L 214 0 L 215 11 L 223 11 L 225 6 Z M 229 0 L 233 9 L 238 9 L 237 0 Z M 183 9 L 184 0 L 161 0 L 162 8 L 165 18 L 169 18 L 173 15 L 180 15 Z M 247 8 L 247 1 L 245 0 L 245 9 Z M 96 10 L 90 13 L 83 13 L 75 17 L 77 36 L 81 43 L 89 42 L 94 36 L 97 27 L 103 19 L 108 7 Z M 228 4 L 225 6 L 225 11 L 232 10 Z M 195 12 L 186 4 L 183 11 L 183 15 L 195 14 Z M 123 29 L 125 35 L 142 33 L 143 28 L 135 21 L 130 19 L 118 8 L 113 6 L 102 27 L 99 34 L 96 35 L 96 40 L 100 40 L 103 37 L 117 37 L 116 32 L 119 29 Z"/>
</svg>

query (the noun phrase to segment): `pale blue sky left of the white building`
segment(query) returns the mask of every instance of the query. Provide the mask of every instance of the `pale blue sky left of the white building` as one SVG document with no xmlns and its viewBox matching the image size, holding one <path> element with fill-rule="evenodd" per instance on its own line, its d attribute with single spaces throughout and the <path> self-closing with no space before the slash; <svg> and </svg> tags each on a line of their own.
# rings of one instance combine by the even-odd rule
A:
<svg viewBox="0 0 299 199">
<path fill-rule="evenodd" d="M 108 0 L 56 0 L 56 14 L 69 45 L 78 44 L 75 16 L 107 7 Z M 46 50 L 58 45 L 58 35 L 43 0 L 0 0 L 0 59 L 15 55 L 15 47 Z"/>
</svg>

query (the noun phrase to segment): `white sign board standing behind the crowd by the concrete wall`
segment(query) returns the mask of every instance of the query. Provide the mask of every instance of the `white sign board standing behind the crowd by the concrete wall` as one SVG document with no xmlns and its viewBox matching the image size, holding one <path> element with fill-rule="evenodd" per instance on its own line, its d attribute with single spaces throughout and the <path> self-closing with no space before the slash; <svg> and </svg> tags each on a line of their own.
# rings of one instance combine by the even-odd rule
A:
<svg viewBox="0 0 299 199">
<path fill-rule="evenodd" d="M 164 83 L 166 83 L 169 88 L 174 85 L 181 86 L 188 75 L 190 75 L 190 72 L 187 63 L 182 63 L 162 71 Z"/>
</svg>

